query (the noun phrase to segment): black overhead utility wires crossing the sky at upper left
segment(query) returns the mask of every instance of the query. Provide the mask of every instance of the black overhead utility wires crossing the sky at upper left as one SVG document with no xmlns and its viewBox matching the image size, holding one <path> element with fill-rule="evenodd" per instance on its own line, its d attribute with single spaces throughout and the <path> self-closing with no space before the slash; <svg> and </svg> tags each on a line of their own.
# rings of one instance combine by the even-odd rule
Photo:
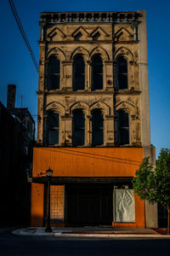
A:
<svg viewBox="0 0 170 256">
<path fill-rule="evenodd" d="M 37 69 L 37 72 L 38 72 L 38 64 L 37 64 L 37 61 L 36 61 L 36 57 L 33 54 L 33 51 L 31 49 L 31 45 L 28 42 L 28 39 L 26 38 L 26 32 L 24 31 L 24 28 L 23 28 L 23 26 L 22 26 L 22 24 L 20 22 L 20 18 L 19 18 L 19 15 L 17 14 L 17 11 L 16 11 L 15 7 L 14 7 L 13 0 L 8 0 L 8 3 L 10 5 L 10 8 L 11 8 L 12 12 L 13 12 L 14 19 L 16 20 L 16 23 L 17 23 L 17 25 L 18 25 L 18 27 L 20 29 L 20 33 L 22 35 L 22 38 L 24 39 L 24 41 L 26 43 L 26 47 L 28 48 L 28 50 L 29 50 L 29 52 L 31 54 L 32 61 L 34 62 L 34 65 L 35 65 L 35 67 Z"/>
</svg>

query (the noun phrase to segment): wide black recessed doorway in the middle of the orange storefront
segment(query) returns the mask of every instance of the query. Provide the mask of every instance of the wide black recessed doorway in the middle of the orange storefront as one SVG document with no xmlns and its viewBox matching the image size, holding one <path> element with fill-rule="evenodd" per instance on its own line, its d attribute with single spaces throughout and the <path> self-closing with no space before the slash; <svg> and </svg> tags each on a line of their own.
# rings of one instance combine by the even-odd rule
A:
<svg viewBox="0 0 170 256">
<path fill-rule="evenodd" d="M 108 187 L 67 187 L 66 222 L 77 225 L 111 224 L 112 189 Z"/>
</svg>

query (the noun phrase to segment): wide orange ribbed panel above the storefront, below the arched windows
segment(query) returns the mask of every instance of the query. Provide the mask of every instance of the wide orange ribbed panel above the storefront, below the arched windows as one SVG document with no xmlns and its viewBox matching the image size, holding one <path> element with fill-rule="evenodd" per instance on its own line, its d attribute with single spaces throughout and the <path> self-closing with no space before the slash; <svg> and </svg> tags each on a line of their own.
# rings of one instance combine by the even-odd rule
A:
<svg viewBox="0 0 170 256">
<path fill-rule="evenodd" d="M 34 148 L 32 176 L 132 177 L 142 160 L 143 148 Z"/>
</svg>

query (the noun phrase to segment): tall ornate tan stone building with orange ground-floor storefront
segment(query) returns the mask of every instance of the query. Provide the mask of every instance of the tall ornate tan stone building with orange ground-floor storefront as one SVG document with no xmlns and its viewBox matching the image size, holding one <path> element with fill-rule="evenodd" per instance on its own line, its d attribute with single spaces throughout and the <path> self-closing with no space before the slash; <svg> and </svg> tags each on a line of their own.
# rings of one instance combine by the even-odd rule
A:
<svg viewBox="0 0 170 256">
<path fill-rule="evenodd" d="M 42 13 L 31 224 L 157 225 L 132 178 L 150 145 L 145 12 Z"/>
</svg>

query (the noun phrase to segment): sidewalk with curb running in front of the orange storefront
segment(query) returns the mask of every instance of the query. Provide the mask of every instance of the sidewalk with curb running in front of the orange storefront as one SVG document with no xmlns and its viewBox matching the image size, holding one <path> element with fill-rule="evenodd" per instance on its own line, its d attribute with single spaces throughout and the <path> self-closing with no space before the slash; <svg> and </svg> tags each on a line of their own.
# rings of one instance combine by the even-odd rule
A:
<svg viewBox="0 0 170 256">
<path fill-rule="evenodd" d="M 161 235 L 152 229 L 114 229 L 110 227 L 68 227 L 52 228 L 51 233 L 45 232 L 45 227 L 29 227 L 13 230 L 12 234 L 18 236 L 56 236 L 56 237 L 143 237 L 143 238 L 170 238 L 170 235 Z"/>
</svg>

